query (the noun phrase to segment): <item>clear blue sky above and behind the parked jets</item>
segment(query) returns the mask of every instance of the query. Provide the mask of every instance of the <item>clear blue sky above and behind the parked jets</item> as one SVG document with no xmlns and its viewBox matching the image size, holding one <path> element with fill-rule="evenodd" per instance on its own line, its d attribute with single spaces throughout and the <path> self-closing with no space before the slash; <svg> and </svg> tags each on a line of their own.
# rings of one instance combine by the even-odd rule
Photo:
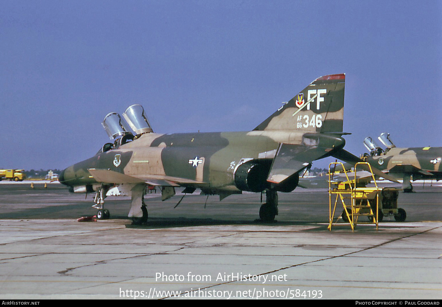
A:
<svg viewBox="0 0 442 307">
<path fill-rule="evenodd" d="M 442 1 L 5 0 L 0 47 L 0 168 L 87 159 L 134 103 L 158 133 L 248 131 L 334 73 L 348 151 L 442 146 Z"/>
</svg>

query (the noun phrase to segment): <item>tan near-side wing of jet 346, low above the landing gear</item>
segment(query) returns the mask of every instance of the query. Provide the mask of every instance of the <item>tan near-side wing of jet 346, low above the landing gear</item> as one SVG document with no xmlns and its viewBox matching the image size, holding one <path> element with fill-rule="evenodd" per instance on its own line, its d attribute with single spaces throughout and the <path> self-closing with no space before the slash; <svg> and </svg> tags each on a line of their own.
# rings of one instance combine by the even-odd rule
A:
<svg viewBox="0 0 442 307">
<path fill-rule="evenodd" d="M 203 184 L 204 182 L 198 182 L 186 178 L 177 178 L 163 175 L 137 175 L 130 176 L 116 171 L 110 171 L 108 169 L 95 169 L 89 168 L 89 173 L 95 178 L 97 182 L 106 183 L 146 183 L 150 186 L 180 186 L 184 183 Z"/>
</svg>

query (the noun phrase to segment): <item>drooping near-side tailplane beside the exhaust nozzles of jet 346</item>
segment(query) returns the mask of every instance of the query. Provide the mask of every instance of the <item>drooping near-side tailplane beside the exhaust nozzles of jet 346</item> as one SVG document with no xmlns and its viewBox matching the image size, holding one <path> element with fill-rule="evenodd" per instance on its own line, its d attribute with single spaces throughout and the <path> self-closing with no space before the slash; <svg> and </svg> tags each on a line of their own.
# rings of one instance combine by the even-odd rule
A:
<svg viewBox="0 0 442 307">
<path fill-rule="evenodd" d="M 279 144 L 273 160 L 268 182 L 281 183 L 291 175 L 308 167 L 313 160 L 327 154 L 330 148 L 294 144 Z"/>
</svg>

